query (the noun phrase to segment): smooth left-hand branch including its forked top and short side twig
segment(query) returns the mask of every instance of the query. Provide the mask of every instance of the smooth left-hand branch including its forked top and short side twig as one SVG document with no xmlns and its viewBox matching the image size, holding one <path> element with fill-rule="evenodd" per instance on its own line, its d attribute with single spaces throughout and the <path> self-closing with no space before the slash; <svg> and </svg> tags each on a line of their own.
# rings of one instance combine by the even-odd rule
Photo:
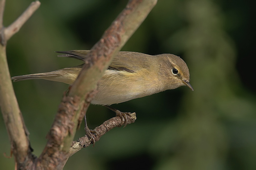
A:
<svg viewBox="0 0 256 170">
<path fill-rule="evenodd" d="M 32 4 L 36 4 L 38 8 L 40 2 L 34 2 Z M 5 0 L 0 0 L 0 106 L 9 139 L 11 141 L 11 150 L 14 153 L 17 166 L 20 168 L 24 166 L 23 163 L 25 160 L 33 160 L 34 157 L 28 138 L 29 133 L 24 124 L 10 79 L 6 58 L 6 42 L 19 30 L 23 23 L 37 8 L 28 7 L 28 9 L 14 23 L 12 23 L 8 28 L 4 28 L 2 25 L 4 7 Z M 11 31 L 11 29 L 13 30 Z"/>
</svg>

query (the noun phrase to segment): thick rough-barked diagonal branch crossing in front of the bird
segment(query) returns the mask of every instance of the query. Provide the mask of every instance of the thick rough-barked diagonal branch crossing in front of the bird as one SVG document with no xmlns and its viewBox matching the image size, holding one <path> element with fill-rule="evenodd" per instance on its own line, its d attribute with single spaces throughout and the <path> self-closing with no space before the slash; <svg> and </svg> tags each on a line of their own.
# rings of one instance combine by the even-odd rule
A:
<svg viewBox="0 0 256 170">
<path fill-rule="evenodd" d="M 81 121 L 79 119 L 83 117 L 97 92 L 98 80 L 112 57 L 139 27 L 156 2 L 157 0 L 130 0 L 102 38 L 92 47 L 68 96 L 63 98 L 59 106 L 47 145 L 38 158 L 38 169 L 63 168 L 65 160 L 69 157 L 70 144 L 77 124 Z"/>
</svg>

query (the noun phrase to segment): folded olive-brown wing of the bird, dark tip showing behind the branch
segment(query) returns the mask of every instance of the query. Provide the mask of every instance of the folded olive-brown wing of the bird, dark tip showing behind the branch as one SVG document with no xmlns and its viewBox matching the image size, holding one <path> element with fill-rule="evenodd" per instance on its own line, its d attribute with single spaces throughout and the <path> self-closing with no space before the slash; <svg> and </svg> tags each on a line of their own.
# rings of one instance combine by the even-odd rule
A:
<svg viewBox="0 0 256 170">
<path fill-rule="evenodd" d="M 79 60 L 84 60 L 90 50 L 71 50 L 71 51 L 56 51 L 64 55 L 58 55 L 58 57 L 71 57 Z M 117 55 L 113 58 L 108 69 L 111 70 L 123 70 L 129 73 L 134 73 L 137 70 L 142 68 L 148 68 L 147 64 L 150 60 L 149 58 L 153 57 L 151 55 L 142 54 L 139 52 L 127 52 L 119 51 Z"/>
</svg>

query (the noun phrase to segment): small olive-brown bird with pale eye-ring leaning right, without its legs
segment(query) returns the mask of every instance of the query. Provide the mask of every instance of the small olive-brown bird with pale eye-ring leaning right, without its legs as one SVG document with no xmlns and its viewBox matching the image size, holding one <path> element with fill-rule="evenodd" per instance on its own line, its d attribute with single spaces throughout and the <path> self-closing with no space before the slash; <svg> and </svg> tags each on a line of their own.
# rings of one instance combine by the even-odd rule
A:
<svg viewBox="0 0 256 170">
<path fill-rule="evenodd" d="M 58 51 L 59 57 L 84 60 L 90 50 Z M 45 79 L 73 84 L 83 64 L 47 73 L 15 76 L 15 81 Z M 98 83 L 98 93 L 92 104 L 111 105 L 189 84 L 187 64 L 173 54 L 147 55 L 120 51 L 113 58 Z"/>
</svg>

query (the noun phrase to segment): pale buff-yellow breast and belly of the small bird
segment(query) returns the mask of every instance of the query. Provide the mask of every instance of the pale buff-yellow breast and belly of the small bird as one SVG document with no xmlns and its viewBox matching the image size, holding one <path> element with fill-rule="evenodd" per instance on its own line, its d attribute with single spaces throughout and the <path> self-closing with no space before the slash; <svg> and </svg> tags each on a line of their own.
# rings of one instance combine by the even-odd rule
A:
<svg viewBox="0 0 256 170">
<path fill-rule="evenodd" d="M 107 70 L 98 84 L 98 93 L 92 104 L 111 105 L 161 91 L 156 76 L 140 70 L 135 73 Z"/>
</svg>

